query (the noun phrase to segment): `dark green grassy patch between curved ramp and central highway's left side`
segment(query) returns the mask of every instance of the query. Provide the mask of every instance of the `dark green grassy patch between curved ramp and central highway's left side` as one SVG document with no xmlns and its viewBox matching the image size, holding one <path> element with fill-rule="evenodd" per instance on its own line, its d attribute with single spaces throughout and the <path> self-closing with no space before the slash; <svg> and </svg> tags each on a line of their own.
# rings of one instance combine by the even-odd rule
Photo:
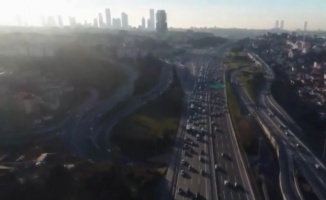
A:
<svg viewBox="0 0 326 200">
<path fill-rule="evenodd" d="M 162 96 L 122 120 L 111 141 L 132 159 L 147 160 L 167 153 L 173 144 L 181 116 L 183 91 L 176 79 Z"/>
</svg>

